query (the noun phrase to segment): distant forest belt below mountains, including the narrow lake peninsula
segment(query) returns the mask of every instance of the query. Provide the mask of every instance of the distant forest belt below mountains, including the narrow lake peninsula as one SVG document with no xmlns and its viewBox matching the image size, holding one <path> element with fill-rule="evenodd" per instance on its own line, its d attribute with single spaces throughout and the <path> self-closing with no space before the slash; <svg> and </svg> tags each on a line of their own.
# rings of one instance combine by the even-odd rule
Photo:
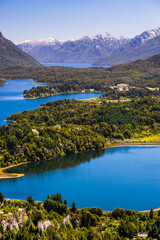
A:
<svg viewBox="0 0 160 240">
<path fill-rule="evenodd" d="M 146 88 L 160 88 L 159 65 L 160 55 L 110 68 L 12 67 L 0 70 L 0 79 L 33 79 L 52 84 L 25 91 L 24 95 L 27 98 L 90 91 L 90 89 L 106 93 L 110 87 L 119 83 L 128 84 L 131 88 L 135 87 L 138 92 L 144 91 L 144 96 L 150 96 L 151 92 L 147 92 Z M 157 94 L 157 92 L 152 93 Z M 134 94 L 134 97 L 136 96 Z"/>
</svg>

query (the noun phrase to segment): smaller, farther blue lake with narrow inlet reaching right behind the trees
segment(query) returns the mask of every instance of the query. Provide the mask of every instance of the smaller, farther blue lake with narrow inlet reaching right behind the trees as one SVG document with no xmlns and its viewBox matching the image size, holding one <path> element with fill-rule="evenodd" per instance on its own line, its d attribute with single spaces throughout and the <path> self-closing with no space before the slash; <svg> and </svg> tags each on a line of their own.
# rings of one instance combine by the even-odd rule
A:
<svg viewBox="0 0 160 240">
<path fill-rule="evenodd" d="M 0 86 L 0 125 L 7 125 L 5 121 L 8 115 L 25 110 L 34 110 L 42 103 L 49 101 L 60 100 L 64 98 L 89 99 L 99 97 L 100 93 L 74 93 L 74 94 L 59 94 L 46 98 L 25 99 L 23 91 L 29 90 L 32 87 L 44 85 L 38 84 L 33 80 L 7 80 L 5 86 Z"/>
</svg>

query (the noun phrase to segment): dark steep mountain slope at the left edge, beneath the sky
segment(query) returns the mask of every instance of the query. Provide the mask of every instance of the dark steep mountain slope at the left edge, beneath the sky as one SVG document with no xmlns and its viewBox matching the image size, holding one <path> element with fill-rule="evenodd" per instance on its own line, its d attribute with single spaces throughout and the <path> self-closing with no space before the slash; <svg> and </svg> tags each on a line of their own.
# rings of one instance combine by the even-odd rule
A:
<svg viewBox="0 0 160 240">
<path fill-rule="evenodd" d="M 33 57 L 20 50 L 0 32 L 0 68 L 12 66 L 41 66 Z"/>
</svg>

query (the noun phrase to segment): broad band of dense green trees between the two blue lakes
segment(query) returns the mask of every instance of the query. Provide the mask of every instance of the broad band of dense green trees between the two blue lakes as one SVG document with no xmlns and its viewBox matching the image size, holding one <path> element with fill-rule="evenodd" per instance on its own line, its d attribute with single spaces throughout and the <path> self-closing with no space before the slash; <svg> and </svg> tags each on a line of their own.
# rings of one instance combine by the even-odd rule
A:
<svg viewBox="0 0 160 240">
<path fill-rule="evenodd" d="M 0 166 L 53 159 L 103 149 L 113 143 L 159 143 L 160 104 L 156 98 L 125 103 L 58 100 L 8 117 L 0 127 Z M 142 141 L 146 142 L 146 141 Z"/>
</svg>

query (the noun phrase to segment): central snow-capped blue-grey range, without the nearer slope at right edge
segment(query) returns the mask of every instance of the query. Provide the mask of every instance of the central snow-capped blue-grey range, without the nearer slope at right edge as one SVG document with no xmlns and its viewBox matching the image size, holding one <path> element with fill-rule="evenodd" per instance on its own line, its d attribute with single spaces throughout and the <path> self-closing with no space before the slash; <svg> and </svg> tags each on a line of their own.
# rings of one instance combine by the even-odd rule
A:
<svg viewBox="0 0 160 240">
<path fill-rule="evenodd" d="M 109 56 L 129 41 L 124 37 L 112 37 L 109 33 L 79 40 L 60 41 L 54 38 L 24 41 L 17 46 L 40 62 L 91 63 L 98 57 Z"/>
</svg>

